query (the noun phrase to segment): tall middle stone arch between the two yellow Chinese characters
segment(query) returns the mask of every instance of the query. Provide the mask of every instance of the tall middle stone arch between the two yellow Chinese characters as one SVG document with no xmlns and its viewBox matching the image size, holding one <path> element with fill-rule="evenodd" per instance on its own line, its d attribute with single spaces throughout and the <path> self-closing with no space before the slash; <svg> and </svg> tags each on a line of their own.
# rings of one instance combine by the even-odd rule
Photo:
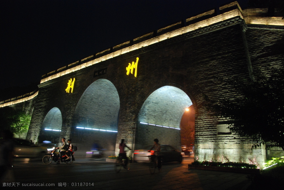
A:
<svg viewBox="0 0 284 190">
<path fill-rule="evenodd" d="M 114 151 L 119 110 L 120 99 L 112 82 L 99 79 L 87 87 L 75 108 L 72 125 L 72 141 L 80 142 L 80 153 L 94 143 Z"/>
</svg>

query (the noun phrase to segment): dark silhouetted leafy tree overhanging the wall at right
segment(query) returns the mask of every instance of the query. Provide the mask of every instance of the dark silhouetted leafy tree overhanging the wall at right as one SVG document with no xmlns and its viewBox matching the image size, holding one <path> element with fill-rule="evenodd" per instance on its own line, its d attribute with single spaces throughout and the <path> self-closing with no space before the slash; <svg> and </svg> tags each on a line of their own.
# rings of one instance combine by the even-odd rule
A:
<svg viewBox="0 0 284 190">
<path fill-rule="evenodd" d="M 230 131 L 284 151 L 284 69 L 255 75 L 255 80 L 230 79 L 240 96 L 209 101 L 214 115 L 228 119 Z"/>
</svg>

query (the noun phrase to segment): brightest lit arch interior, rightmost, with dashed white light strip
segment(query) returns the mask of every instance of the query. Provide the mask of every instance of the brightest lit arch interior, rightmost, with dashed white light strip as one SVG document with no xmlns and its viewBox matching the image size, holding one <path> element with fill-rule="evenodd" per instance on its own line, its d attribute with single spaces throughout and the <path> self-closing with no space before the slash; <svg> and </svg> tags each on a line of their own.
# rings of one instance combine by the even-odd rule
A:
<svg viewBox="0 0 284 190">
<path fill-rule="evenodd" d="M 152 144 L 154 138 L 158 138 L 161 144 L 171 144 L 180 149 L 180 121 L 185 108 L 191 105 L 188 95 L 178 87 L 156 89 L 139 110 L 135 149 Z"/>
</svg>

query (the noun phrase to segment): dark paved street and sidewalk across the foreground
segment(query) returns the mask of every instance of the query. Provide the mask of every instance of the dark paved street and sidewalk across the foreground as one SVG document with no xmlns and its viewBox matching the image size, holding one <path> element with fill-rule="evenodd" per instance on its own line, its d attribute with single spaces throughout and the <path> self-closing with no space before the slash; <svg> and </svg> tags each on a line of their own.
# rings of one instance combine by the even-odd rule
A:
<svg viewBox="0 0 284 190">
<path fill-rule="evenodd" d="M 131 163 L 130 170 L 114 172 L 114 165 L 101 159 L 76 158 L 71 164 L 43 165 L 40 160 L 16 160 L 16 187 L 2 189 L 246 189 L 246 174 L 188 170 L 193 160 L 165 163 L 162 171 L 150 174 L 147 165 Z M 53 184 L 52 187 L 46 186 Z M 35 187 L 36 184 L 45 186 Z M 1 184 L 3 186 L 3 184 Z"/>
</svg>

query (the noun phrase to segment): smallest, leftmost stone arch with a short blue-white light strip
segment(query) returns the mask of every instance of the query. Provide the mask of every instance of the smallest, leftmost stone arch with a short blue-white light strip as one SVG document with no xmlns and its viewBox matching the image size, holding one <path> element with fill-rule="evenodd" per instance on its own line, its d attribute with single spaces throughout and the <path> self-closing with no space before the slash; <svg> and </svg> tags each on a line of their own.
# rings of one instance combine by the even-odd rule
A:
<svg viewBox="0 0 284 190">
<path fill-rule="evenodd" d="M 49 110 L 43 119 L 38 142 L 41 143 L 44 140 L 48 140 L 53 143 L 58 143 L 61 128 L 62 114 L 59 108 L 54 107 Z"/>
</svg>

